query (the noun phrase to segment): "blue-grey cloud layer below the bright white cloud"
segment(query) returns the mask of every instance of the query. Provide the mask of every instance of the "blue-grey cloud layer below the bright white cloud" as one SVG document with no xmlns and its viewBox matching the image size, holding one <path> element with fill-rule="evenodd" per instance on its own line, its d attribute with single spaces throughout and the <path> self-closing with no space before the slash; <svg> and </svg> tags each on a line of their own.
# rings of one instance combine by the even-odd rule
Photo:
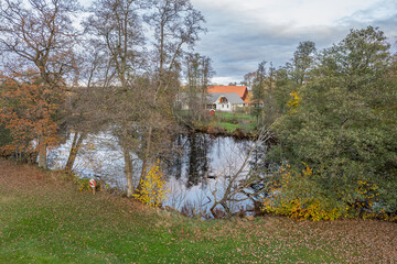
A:
<svg viewBox="0 0 397 264">
<path fill-rule="evenodd" d="M 396 6 L 390 0 L 384 1 L 384 4 L 391 8 Z M 305 28 L 294 26 L 290 22 L 283 24 L 267 20 L 259 22 L 233 7 L 210 8 L 203 4 L 201 7 L 207 20 L 208 33 L 202 36 L 196 51 L 212 57 L 218 79 L 229 81 L 242 80 L 246 73 L 255 70 L 258 63 L 264 59 L 272 62 L 276 67 L 285 65 L 302 41 L 313 41 L 318 50 L 322 50 L 340 42 L 350 29 L 361 29 L 368 24 L 387 29 L 386 35 L 390 33 L 393 36 L 397 35 L 393 30 L 396 25 L 396 15 L 373 18 L 376 7 L 357 11 L 334 25 Z M 362 18 L 369 18 L 369 22 Z"/>
</svg>

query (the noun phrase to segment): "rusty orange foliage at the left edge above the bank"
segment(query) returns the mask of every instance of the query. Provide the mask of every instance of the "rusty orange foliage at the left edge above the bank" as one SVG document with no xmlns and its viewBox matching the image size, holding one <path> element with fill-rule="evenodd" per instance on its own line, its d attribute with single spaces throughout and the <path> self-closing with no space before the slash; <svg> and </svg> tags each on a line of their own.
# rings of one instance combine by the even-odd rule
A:
<svg viewBox="0 0 397 264">
<path fill-rule="evenodd" d="M 53 146 L 58 142 L 56 116 L 62 92 L 43 84 L 33 70 L 6 76 L 0 73 L 0 122 L 11 131 L 13 142 L 4 152 L 33 151 L 32 141 Z"/>
</svg>

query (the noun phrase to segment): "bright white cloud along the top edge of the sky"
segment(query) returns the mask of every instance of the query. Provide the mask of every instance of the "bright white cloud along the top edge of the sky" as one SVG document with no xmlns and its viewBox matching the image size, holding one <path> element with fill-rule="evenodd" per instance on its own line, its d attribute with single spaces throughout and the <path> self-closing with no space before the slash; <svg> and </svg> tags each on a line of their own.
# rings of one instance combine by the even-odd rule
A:
<svg viewBox="0 0 397 264">
<path fill-rule="evenodd" d="M 367 9 L 379 0 L 192 0 L 203 12 L 242 21 L 308 26 L 330 25 L 335 20 Z"/>
</svg>

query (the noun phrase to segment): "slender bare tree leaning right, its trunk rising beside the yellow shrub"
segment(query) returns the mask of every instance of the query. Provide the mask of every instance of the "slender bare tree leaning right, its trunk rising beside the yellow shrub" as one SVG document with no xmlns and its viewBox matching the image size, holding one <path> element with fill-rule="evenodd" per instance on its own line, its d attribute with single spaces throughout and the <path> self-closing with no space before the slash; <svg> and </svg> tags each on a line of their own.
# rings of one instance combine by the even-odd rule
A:
<svg viewBox="0 0 397 264">
<path fill-rule="evenodd" d="M 142 157 L 141 180 L 144 179 L 148 162 L 152 156 L 153 128 L 155 117 L 159 117 L 159 106 L 173 98 L 176 86 L 179 58 L 183 55 L 184 46 L 193 46 L 198 40 L 198 34 L 204 32 L 202 26 L 204 16 L 195 10 L 190 0 L 152 0 L 149 1 L 152 13 L 147 21 L 154 28 L 155 51 L 153 62 L 155 63 L 155 85 L 152 89 L 149 123 L 146 128 L 144 153 Z M 175 86 L 176 85 L 176 86 Z M 171 92 L 173 89 L 173 92 Z M 171 96 L 171 97 L 170 97 Z M 171 99 L 173 100 L 173 99 Z M 138 190 L 141 185 L 138 186 Z"/>
</svg>

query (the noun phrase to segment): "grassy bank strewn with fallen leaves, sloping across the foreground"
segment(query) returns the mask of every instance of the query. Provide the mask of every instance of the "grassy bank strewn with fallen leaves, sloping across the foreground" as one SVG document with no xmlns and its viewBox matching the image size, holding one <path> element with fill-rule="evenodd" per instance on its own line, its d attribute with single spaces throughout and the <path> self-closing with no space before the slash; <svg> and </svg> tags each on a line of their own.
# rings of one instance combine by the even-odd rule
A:
<svg viewBox="0 0 397 264">
<path fill-rule="evenodd" d="M 379 221 L 201 221 L 79 193 L 60 175 L 0 160 L 0 263 L 396 262 Z M 182 232 L 183 229 L 183 232 Z"/>
</svg>

